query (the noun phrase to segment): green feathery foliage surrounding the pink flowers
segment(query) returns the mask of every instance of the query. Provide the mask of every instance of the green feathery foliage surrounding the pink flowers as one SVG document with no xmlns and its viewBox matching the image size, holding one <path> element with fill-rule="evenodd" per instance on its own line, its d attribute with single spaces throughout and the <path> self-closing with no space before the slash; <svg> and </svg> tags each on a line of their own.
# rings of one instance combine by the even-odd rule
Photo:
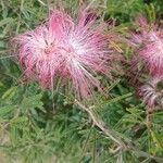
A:
<svg viewBox="0 0 163 163">
<path fill-rule="evenodd" d="M 122 35 L 141 13 L 163 18 L 162 0 L 0 0 L 0 163 L 163 163 L 163 111 L 149 122 L 123 73 L 112 82 L 99 76 L 110 98 L 97 93 L 93 113 L 130 149 L 103 134 L 74 104 L 68 88 L 51 92 L 24 78 L 9 40 L 40 24 L 61 2 L 71 14 L 92 2 L 105 20 L 116 21 Z M 130 54 L 122 48 L 124 57 Z"/>
</svg>

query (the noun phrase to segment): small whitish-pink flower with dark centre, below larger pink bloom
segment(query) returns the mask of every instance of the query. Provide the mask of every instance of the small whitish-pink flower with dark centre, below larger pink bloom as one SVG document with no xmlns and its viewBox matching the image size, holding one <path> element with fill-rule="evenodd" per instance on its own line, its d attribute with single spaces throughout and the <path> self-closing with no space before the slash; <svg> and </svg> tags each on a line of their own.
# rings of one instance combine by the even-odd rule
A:
<svg viewBox="0 0 163 163">
<path fill-rule="evenodd" d="M 141 86 L 139 93 L 142 101 L 150 109 L 163 106 L 163 77 L 154 77 L 146 85 Z"/>
</svg>

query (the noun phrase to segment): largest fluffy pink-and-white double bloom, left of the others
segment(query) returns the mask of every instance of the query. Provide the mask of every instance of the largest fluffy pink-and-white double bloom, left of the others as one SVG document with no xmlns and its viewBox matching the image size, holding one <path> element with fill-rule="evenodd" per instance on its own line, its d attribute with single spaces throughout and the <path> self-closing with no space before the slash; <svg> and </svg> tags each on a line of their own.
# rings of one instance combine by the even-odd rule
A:
<svg viewBox="0 0 163 163">
<path fill-rule="evenodd" d="M 14 38 L 17 59 L 30 77 L 47 87 L 57 76 L 70 78 L 77 97 L 84 99 L 95 87 L 100 89 L 97 73 L 108 75 L 111 50 L 109 36 L 101 32 L 92 13 L 80 13 L 73 21 L 54 10 L 49 20 Z"/>
</svg>

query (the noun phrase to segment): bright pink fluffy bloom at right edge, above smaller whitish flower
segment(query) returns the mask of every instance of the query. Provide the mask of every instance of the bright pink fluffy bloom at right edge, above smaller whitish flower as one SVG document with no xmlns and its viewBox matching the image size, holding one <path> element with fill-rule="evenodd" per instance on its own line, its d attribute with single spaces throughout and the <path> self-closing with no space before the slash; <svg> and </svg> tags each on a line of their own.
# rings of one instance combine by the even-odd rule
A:
<svg viewBox="0 0 163 163">
<path fill-rule="evenodd" d="M 163 75 L 163 30 L 158 25 L 148 24 L 143 16 L 136 23 L 139 32 L 129 32 L 129 42 L 136 47 L 137 59 L 145 62 L 150 75 Z"/>
</svg>

